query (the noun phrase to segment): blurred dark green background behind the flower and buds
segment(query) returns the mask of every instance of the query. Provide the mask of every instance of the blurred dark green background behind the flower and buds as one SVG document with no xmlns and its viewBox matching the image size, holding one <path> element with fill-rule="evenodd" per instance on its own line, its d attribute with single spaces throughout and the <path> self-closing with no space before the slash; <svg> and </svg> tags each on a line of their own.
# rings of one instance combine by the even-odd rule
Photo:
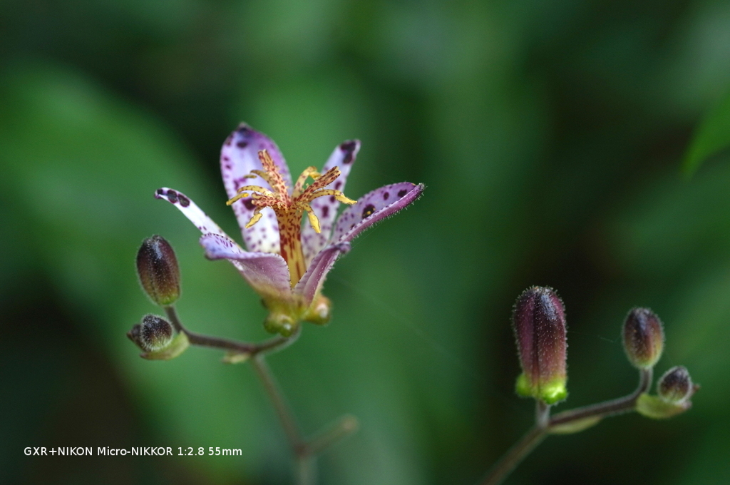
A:
<svg viewBox="0 0 730 485">
<path fill-rule="evenodd" d="M 680 173 L 729 87 L 720 0 L 1 1 L 0 483 L 291 483 L 250 367 L 147 362 L 125 337 L 155 312 L 134 272 L 151 234 L 178 253 L 191 329 L 266 337 L 253 291 L 152 196 L 177 188 L 237 234 L 218 151 L 239 121 L 297 173 L 362 140 L 351 197 L 427 187 L 330 273 L 331 324 L 269 359 L 305 432 L 361 421 L 321 484 L 475 484 L 531 424 L 509 317 L 534 284 L 569 318 L 558 410 L 634 389 L 634 305 L 666 324 L 658 372 L 702 390 L 669 421 L 550 438 L 508 483 L 730 483 L 730 161 Z"/>
</svg>

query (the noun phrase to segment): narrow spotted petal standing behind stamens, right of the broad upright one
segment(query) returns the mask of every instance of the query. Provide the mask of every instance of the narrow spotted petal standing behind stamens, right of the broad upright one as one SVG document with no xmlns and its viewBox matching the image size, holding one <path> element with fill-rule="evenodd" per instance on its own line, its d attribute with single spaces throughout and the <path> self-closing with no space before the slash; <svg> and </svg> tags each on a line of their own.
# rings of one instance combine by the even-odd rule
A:
<svg viewBox="0 0 730 485">
<path fill-rule="evenodd" d="M 360 140 L 347 140 L 337 145 L 337 148 L 334 149 L 326 164 L 322 167 L 322 173 L 333 167 L 339 167 L 341 174 L 327 188 L 345 191 L 347 175 L 350 175 L 350 169 L 355 164 L 358 151 L 360 151 Z M 333 196 L 319 197 L 314 199 L 310 205 L 320 221 L 321 232 L 319 234 L 315 232 L 310 224 L 304 224 L 301 229 L 301 248 L 304 251 L 304 259 L 307 264 L 329 242 L 332 226 L 334 226 L 334 220 L 337 218 L 339 201 Z"/>
</svg>

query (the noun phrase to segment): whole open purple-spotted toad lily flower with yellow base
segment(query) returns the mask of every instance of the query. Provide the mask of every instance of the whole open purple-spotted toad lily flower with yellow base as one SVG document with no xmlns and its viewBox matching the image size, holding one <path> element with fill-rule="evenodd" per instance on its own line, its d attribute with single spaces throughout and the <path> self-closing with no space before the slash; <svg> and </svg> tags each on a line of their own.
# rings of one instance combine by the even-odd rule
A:
<svg viewBox="0 0 730 485">
<path fill-rule="evenodd" d="M 245 124 L 231 133 L 220 151 L 220 169 L 227 204 L 233 207 L 248 251 L 185 194 L 164 187 L 155 197 L 171 202 L 200 229 L 208 259 L 231 261 L 261 295 L 269 310 L 266 329 L 288 336 L 300 321 L 329 320 L 330 303 L 321 294 L 322 284 L 334 261 L 350 251 L 350 241 L 423 192 L 423 184 L 402 182 L 358 201 L 348 199 L 342 191 L 358 150 L 358 140 L 342 143 L 321 172 L 308 167 L 292 184 L 284 158 L 269 137 Z M 340 202 L 350 207 L 338 218 Z M 305 213 L 308 223 L 302 224 Z"/>
</svg>

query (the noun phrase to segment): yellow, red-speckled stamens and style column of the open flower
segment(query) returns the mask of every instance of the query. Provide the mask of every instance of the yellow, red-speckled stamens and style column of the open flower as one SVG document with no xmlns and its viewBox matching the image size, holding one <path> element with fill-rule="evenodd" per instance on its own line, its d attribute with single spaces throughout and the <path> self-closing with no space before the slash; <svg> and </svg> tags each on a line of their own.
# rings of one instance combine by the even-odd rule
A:
<svg viewBox="0 0 730 485">
<path fill-rule="evenodd" d="M 289 266 L 291 286 L 293 287 L 307 271 L 307 266 L 304 264 L 304 253 L 301 252 L 301 216 L 307 213 L 312 228 L 316 232 L 320 232 L 319 219 L 312 210 L 310 202 L 317 197 L 323 196 L 334 196 L 339 202 L 345 204 L 354 204 L 356 201 L 348 199 L 341 191 L 325 188 L 339 177 L 341 172 L 337 167 L 329 169 L 324 174 L 317 172 L 315 167 L 307 167 L 296 179 L 290 195 L 289 188 L 269 153 L 266 150 L 259 151 L 258 159 L 261 160 L 264 169 L 251 170 L 251 173 L 246 177 L 261 177 L 269 183 L 272 190 L 261 186 L 243 186 L 238 189 L 236 196 L 226 202 L 226 205 L 231 205 L 245 197 L 251 197 L 254 210 L 253 216 L 246 224 L 246 229 L 261 219 L 261 209 L 271 207 L 274 210 L 279 223 L 280 254 Z M 304 187 L 310 177 L 312 183 Z"/>
</svg>

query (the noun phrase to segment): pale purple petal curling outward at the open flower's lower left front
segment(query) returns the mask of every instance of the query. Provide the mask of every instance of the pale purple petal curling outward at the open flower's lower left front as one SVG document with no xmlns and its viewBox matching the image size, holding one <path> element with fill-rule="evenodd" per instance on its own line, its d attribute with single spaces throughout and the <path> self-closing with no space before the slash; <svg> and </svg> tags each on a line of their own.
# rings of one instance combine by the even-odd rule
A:
<svg viewBox="0 0 730 485">
<path fill-rule="evenodd" d="M 221 234 L 205 234 L 200 244 L 208 259 L 231 261 L 261 297 L 291 299 L 289 268 L 278 254 L 249 253 Z"/>
</svg>

